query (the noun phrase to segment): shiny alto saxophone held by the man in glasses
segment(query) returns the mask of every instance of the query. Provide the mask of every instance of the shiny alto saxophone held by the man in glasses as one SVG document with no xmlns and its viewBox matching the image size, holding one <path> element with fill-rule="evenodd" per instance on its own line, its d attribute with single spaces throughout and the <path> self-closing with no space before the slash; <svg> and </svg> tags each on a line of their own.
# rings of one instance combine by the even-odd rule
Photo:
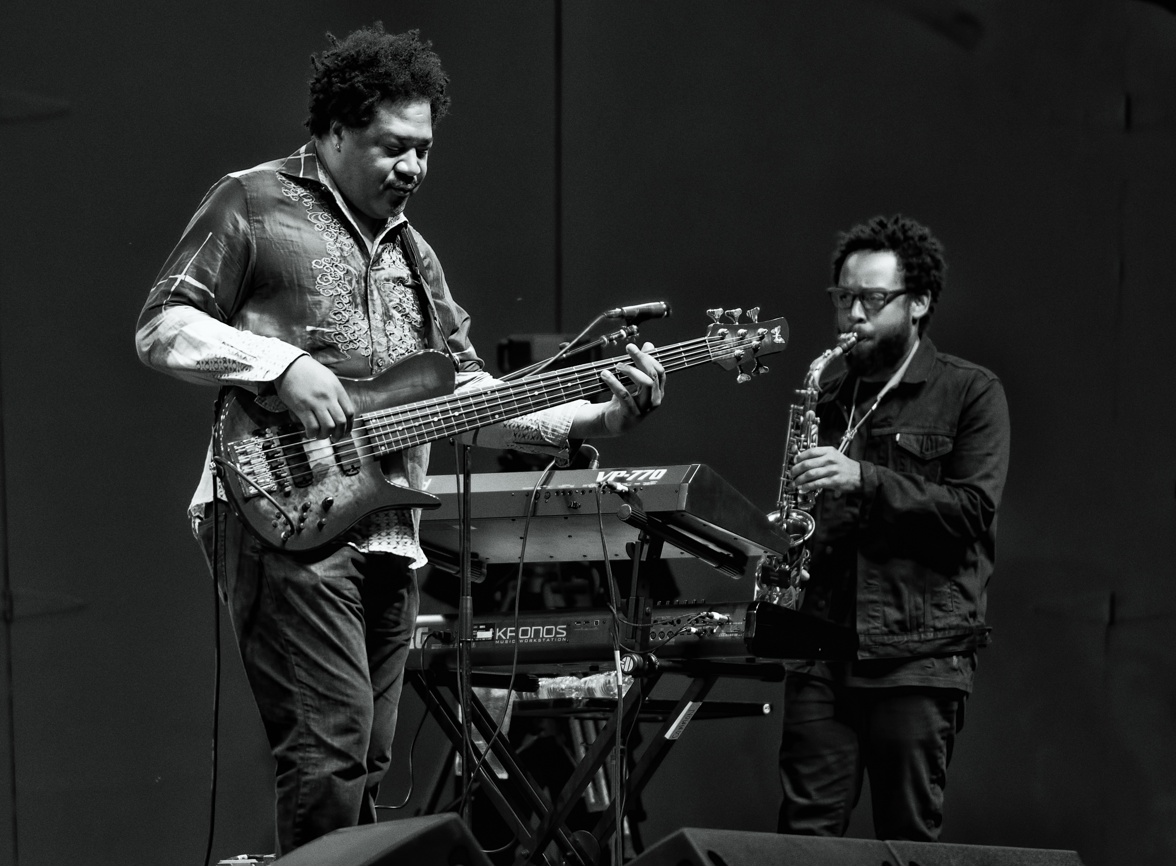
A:
<svg viewBox="0 0 1176 866">
<path fill-rule="evenodd" d="M 816 490 L 801 492 L 793 478 L 796 457 L 802 451 L 816 448 L 817 428 L 816 401 L 821 396 L 821 374 L 829 363 L 844 355 L 857 343 L 853 331 L 837 337 L 833 349 L 826 349 L 811 364 L 804 376 L 804 387 L 797 389 L 797 402 L 788 409 L 788 439 L 784 444 L 784 465 L 780 470 L 780 491 L 776 510 L 768 515 L 768 522 L 780 533 L 788 536 L 788 555 L 766 556 L 755 571 L 755 597 L 783 607 L 797 609 L 801 602 L 801 572 L 808 566 L 810 551 L 808 539 L 816 530 L 816 521 L 810 513 L 816 505 Z"/>
</svg>

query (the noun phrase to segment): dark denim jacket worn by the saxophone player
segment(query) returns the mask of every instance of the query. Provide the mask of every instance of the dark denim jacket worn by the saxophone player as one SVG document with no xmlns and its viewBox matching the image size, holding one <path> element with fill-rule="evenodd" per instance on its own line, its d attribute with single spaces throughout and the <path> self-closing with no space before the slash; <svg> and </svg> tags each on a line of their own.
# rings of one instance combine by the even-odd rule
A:
<svg viewBox="0 0 1176 866">
<path fill-rule="evenodd" d="M 855 377 L 823 383 L 820 441 L 847 429 Z M 860 403 L 856 418 L 873 398 Z M 996 511 L 1009 462 L 1000 380 L 922 338 L 857 432 L 862 489 L 822 494 L 802 610 L 856 627 L 858 658 L 947 656 L 988 643 Z"/>
</svg>

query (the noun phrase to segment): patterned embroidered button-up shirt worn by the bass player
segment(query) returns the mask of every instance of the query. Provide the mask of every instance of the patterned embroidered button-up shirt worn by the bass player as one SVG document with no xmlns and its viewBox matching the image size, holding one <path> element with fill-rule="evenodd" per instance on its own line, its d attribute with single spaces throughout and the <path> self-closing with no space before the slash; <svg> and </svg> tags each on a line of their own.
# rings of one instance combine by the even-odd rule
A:
<svg viewBox="0 0 1176 866">
<path fill-rule="evenodd" d="M 425 287 L 406 259 L 406 231 L 421 250 Z M 487 388 L 495 380 L 482 371 L 468 333 L 469 316 L 425 239 L 401 214 L 368 241 L 312 141 L 208 192 L 160 271 L 135 336 L 139 357 L 154 369 L 266 395 L 302 355 L 341 376 L 367 377 L 422 348 L 449 355 L 459 391 Z M 566 459 L 582 403 L 483 428 L 477 443 Z M 421 489 L 428 458 L 428 445 L 413 448 L 385 472 Z M 209 459 L 211 445 L 193 512 L 214 496 Z M 427 559 L 419 519 L 416 511 L 381 512 L 356 526 L 349 543 L 420 568 Z"/>
</svg>

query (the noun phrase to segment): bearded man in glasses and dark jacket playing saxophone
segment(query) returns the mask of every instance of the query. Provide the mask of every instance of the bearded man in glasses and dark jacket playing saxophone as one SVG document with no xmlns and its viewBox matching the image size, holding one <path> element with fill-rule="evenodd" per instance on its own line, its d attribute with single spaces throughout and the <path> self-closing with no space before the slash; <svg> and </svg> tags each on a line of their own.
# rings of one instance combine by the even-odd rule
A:
<svg viewBox="0 0 1176 866">
<path fill-rule="evenodd" d="M 1009 456 L 1000 381 L 927 336 L 944 270 L 902 216 L 854 227 L 834 254 L 837 334 L 857 342 L 821 382 L 818 445 L 791 476 L 820 494 L 801 610 L 856 629 L 860 649 L 789 663 L 782 833 L 843 834 L 869 772 L 880 839 L 940 834 Z"/>
</svg>

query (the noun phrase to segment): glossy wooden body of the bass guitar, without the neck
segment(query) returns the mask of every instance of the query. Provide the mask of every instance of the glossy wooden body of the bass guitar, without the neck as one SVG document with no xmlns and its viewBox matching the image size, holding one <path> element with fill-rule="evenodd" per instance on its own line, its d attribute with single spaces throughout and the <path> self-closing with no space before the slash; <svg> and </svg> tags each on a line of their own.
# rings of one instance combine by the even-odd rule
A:
<svg viewBox="0 0 1176 866">
<path fill-rule="evenodd" d="M 221 400 L 213 461 L 241 522 L 263 544 L 289 552 L 323 546 L 376 511 L 434 509 L 441 503 L 385 478 L 387 434 L 365 414 L 453 394 L 453 363 L 420 351 L 379 376 L 340 382 L 355 404 L 352 434 L 339 442 L 308 441 L 275 397 L 230 388 Z"/>
</svg>

